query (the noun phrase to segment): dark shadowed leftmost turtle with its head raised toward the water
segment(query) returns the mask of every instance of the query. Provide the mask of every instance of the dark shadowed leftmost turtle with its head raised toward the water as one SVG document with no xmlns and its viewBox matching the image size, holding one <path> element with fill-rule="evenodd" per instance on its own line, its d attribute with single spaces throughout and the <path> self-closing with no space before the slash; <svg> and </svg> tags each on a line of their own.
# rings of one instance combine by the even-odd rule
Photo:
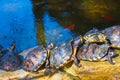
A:
<svg viewBox="0 0 120 80">
<path fill-rule="evenodd" d="M 0 69 L 14 71 L 19 67 L 21 59 L 17 54 L 14 53 L 14 49 L 15 44 L 13 43 L 11 47 L 6 50 L 6 53 L 2 57 L 2 60 L 0 61 Z"/>
</svg>

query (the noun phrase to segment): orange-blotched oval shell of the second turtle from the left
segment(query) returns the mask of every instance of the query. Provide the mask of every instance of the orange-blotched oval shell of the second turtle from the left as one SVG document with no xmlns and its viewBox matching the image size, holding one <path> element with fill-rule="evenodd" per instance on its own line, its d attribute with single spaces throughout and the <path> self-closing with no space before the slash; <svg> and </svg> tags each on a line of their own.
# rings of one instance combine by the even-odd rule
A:
<svg viewBox="0 0 120 80">
<path fill-rule="evenodd" d="M 47 50 L 43 46 L 31 48 L 24 59 L 23 69 L 30 72 L 36 72 L 42 69 L 47 59 Z"/>
</svg>

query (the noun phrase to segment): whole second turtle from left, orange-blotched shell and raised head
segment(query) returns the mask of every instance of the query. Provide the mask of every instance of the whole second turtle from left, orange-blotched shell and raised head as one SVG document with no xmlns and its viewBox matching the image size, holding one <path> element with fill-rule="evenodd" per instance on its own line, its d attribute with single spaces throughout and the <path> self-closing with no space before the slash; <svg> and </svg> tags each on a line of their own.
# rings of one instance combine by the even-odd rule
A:
<svg viewBox="0 0 120 80">
<path fill-rule="evenodd" d="M 38 73 L 40 70 L 49 67 L 50 49 L 53 45 L 51 42 L 46 48 L 43 45 L 31 48 L 23 61 L 22 68 L 28 72 Z"/>
</svg>

